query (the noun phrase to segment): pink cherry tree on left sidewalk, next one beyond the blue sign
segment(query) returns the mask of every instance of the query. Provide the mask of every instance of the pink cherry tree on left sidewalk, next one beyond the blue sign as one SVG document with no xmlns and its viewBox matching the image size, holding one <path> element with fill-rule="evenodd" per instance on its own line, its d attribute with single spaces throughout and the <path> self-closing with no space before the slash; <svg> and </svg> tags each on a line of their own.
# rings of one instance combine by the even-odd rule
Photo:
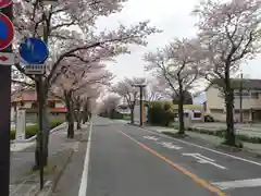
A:
<svg viewBox="0 0 261 196">
<path fill-rule="evenodd" d="M 72 63 L 74 66 L 69 66 Z M 77 122 L 77 128 L 80 128 L 84 100 L 88 98 L 97 98 L 100 93 L 100 86 L 109 85 L 113 75 L 105 70 L 104 64 L 99 62 L 89 63 L 88 65 L 83 66 L 80 60 L 64 61 L 63 65 L 66 69 L 62 71 L 63 74 L 57 79 L 54 88 L 57 94 L 60 93 L 60 95 L 64 97 L 67 108 L 67 137 L 73 138 L 74 121 Z"/>
</svg>

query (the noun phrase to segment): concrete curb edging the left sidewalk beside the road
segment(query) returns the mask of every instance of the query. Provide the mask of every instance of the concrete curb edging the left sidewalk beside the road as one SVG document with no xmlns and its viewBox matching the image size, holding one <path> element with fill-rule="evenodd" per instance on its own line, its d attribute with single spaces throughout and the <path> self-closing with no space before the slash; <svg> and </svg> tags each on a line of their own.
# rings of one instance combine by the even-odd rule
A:
<svg viewBox="0 0 261 196">
<path fill-rule="evenodd" d="M 89 128 L 89 125 L 90 124 L 88 124 L 88 127 L 86 127 L 86 128 Z M 84 132 L 80 134 L 80 138 L 83 137 L 83 135 L 84 135 Z M 64 162 L 64 164 L 62 164 L 62 169 L 58 172 L 57 176 L 53 179 L 53 182 L 47 181 L 44 186 L 44 189 L 38 192 L 36 194 L 36 196 L 51 196 L 52 195 L 53 191 L 57 188 L 57 185 L 58 185 L 61 176 L 63 175 L 64 171 L 66 170 L 66 168 L 67 168 L 69 163 L 71 162 L 75 152 L 76 151 L 75 151 L 74 147 L 71 148 L 71 151 L 70 151 L 70 155 L 69 155 L 66 161 Z"/>
</svg>

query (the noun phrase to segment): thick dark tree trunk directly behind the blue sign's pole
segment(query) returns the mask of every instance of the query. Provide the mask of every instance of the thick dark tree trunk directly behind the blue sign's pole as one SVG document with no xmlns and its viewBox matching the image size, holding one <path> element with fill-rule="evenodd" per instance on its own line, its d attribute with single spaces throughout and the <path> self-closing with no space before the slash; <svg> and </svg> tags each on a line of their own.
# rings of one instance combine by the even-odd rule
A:
<svg viewBox="0 0 261 196">
<path fill-rule="evenodd" d="M 48 164 L 48 145 L 49 145 L 49 122 L 48 122 L 48 111 L 47 111 L 47 97 L 48 90 L 44 82 L 36 82 L 37 101 L 38 107 L 40 107 L 41 112 L 38 112 L 38 134 L 36 138 L 36 149 L 35 149 L 35 166 L 34 169 L 38 170 L 40 168 L 40 159 L 42 164 L 46 167 Z M 38 108 L 39 109 L 39 108 Z M 41 121 L 41 122 L 40 122 Z M 40 127 L 40 124 L 42 127 Z M 42 132 L 41 132 L 42 131 Z M 42 137 L 42 155 L 40 155 L 40 144 Z"/>
</svg>

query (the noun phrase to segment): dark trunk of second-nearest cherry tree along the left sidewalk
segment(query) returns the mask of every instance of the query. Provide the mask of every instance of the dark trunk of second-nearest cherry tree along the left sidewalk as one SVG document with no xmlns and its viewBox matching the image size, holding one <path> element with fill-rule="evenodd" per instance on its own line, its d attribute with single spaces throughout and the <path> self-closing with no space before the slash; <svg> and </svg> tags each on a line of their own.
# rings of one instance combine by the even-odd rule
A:
<svg viewBox="0 0 261 196">
<path fill-rule="evenodd" d="M 66 121 L 67 121 L 67 138 L 74 138 L 74 109 L 72 105 L 72 93 L 64 91 L 65 105 L 67 108 Z"/>
</svg>

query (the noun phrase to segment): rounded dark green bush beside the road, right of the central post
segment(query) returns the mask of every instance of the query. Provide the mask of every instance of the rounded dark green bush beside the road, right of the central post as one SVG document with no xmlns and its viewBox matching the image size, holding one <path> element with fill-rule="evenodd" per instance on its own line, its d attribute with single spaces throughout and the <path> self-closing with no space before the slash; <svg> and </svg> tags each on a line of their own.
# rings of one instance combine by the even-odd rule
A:
<svg viewBox="0 0 261 196">
<path fill-rule="evenodd" d="M 148 121 L 153 125 L 169 126 L 174 121 L 172 101 L 151 101 L 148 108 Z"/>
</svg>

